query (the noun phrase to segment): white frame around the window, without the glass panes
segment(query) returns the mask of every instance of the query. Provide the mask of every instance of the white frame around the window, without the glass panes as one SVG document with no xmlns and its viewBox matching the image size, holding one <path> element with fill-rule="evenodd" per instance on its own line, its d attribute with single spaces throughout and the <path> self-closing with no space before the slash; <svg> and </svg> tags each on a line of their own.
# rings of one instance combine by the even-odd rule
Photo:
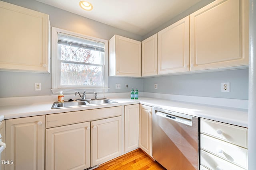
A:
<svg viewBox="0 0 256 170">
<path fill-rule="evenodd" d="M 82 88 L 58 88 L 60 86 L 60 66 L 58 65 L 58 32 L 74 35 L 77 37 L 83 37 L 86 39 L 92 39 L 94 41 L 99 41 L 105 44 L 105 55 L 104 55 L 104 63 L 102 67 L 103 73 L 103 87 L 82 87 Z M 86 90 L 86 92 L 107 92 L 108 91 L 108 40 L 100 39 L 88 35 L 83 35 L 80 33 L 68 31 L 65 29 L 60 29 L 56 27 L 52 27 L 52 93 L 58 94 L 60 91 L 64 93 L 74 93 L 76 90 L 82 91 Z"/>
</svg>

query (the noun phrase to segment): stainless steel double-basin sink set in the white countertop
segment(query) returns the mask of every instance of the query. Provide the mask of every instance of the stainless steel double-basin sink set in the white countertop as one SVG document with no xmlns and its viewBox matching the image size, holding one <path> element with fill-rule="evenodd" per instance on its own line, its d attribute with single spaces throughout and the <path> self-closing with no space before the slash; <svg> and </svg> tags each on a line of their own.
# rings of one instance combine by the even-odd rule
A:
<svg viewBox="0 0 256 170">
<path fill-rule="evenodd" d="M 80 101 L 72 101 L 72 102 L 54 102 L 51 109 L 60 109 L 66 107 L 79 107 L 79 106 L 92 106 L 92 105 L 99 105 L 99 104 L 111 104 L 117 103 L 110 99 L 95 99 L 95 100 L 80 100 Z"/>
</svg>

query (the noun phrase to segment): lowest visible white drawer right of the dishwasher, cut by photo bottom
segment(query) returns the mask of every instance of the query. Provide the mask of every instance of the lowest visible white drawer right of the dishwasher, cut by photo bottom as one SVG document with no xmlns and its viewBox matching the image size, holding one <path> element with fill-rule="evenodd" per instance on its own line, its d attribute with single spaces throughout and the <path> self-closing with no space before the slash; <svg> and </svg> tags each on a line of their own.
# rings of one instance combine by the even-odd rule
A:
<svg viewBox="0 0 256 170">
<path fill-rule="evenodd" d="M 244 170 L 222 158 L 201 150 L 201 164 L 211 170 Z"/>
</svg>

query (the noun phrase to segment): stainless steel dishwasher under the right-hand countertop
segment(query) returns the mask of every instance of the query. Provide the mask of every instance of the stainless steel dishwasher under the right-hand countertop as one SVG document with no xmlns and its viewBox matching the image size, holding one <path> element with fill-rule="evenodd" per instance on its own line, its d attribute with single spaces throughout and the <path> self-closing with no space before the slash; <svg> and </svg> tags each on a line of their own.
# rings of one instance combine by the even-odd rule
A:
<svg viewBox="0 0 256 170">
<path fill-rule="evenodd" d="M 153 107 L 152 156 L 168 170 L 198 170 L 198 117 Z"/>
</svg>

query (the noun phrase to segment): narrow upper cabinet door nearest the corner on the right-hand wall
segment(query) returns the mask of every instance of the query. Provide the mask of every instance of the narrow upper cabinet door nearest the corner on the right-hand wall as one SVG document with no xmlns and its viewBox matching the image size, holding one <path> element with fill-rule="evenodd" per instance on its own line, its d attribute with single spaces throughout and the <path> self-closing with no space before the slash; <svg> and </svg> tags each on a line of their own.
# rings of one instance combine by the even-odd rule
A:
<svg viewBox="0 0 256 170">
<path fill-rule="evenodd" d="M 157 33 L 142 41 L 142 76 L 157 75 Z"/>
</svg>

